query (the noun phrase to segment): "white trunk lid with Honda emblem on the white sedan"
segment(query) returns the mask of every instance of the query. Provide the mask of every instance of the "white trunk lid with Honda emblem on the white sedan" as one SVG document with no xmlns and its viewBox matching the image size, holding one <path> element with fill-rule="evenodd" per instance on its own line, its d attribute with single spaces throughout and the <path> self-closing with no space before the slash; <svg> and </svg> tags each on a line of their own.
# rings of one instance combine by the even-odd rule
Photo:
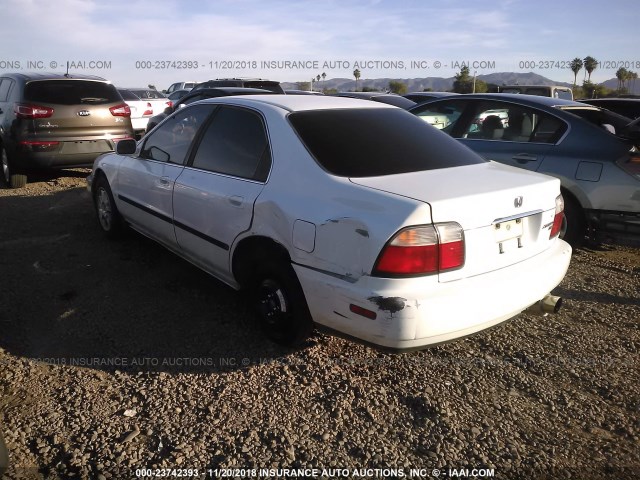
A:
<svg viewBox="0 0 640 480">
<path fill-rule="evenodd" d="M 555 240 L 549 234 L 560 182 L 546 175 L 488 162 L 351 181 L 428 203 L 433 223 L 462 226 L 464 267 L 440 274 L 440 281 L 504 268 Z"/>
</svg>

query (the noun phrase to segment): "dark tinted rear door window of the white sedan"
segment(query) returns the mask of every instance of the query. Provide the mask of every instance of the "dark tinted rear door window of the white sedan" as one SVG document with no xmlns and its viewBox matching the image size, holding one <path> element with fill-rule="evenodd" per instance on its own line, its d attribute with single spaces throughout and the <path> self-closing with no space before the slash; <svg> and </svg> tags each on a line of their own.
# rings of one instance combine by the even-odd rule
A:
<svg viewBox="0 0 640 480">
<path fill-rule="evenodd" d="M 216 112 L 193 158 L 195 168 L 259 181 L 266 180 L 270 163 L 262 119 L 230 107 Z"/>
</svg>

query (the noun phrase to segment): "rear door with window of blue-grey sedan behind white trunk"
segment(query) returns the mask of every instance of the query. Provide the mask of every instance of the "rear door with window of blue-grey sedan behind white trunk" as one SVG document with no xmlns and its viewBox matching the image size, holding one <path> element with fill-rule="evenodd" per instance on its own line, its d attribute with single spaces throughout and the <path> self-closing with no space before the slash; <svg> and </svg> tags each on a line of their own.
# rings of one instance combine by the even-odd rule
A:
<svg viewBox="0 0 640 480">
<path fill-rule="evenodd" d="M 551 114 L 516 103 L 473 100 L 469 107 L 453 136 L 488 160 L 527 170 L 540 168 L 567 128 Z"/>
</svg>

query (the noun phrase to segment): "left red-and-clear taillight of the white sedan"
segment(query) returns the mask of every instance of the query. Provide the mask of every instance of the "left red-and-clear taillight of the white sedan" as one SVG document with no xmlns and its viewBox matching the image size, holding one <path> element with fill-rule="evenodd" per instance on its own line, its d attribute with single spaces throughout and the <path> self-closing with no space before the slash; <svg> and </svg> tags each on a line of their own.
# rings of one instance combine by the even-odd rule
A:
<svg viewBox="0 0 640 480">
<path fill-rule="evenodd" d="M 429 275 L 464 265 L 464 232 L 453 222 L 400 230 L 382 249 L 373 269 L 378 277 Z"/>
</svg>

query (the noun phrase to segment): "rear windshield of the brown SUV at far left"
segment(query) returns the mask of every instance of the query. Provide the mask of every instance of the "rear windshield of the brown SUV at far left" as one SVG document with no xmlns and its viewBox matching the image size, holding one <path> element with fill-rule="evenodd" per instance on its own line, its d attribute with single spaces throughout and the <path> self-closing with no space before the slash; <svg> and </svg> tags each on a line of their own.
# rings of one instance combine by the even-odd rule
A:
<svg viewBox="0 0 640 480">
<path fill-rule="evenodd" d="M 25 100 L 57 105 L 77 105 L 122 102 L 116 87 L 110 83 L 90 80 L 40 80 L 29 82 Z"/>
</svg>

